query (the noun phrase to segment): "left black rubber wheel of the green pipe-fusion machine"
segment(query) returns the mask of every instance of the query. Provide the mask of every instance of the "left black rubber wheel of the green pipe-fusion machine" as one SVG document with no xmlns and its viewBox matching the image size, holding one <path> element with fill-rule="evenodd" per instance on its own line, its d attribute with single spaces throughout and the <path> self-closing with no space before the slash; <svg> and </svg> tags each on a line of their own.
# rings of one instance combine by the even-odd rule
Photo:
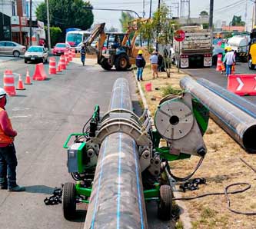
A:
<svg viewBox="0 0 256 229">
<path fill-rule="evenodd" d="M 65 219 L 71 220 L 75 217 L 76 211 L 76 191 L 73 183 L 65 183 L 62 192 L 62 208 Z"/>
</svg>

